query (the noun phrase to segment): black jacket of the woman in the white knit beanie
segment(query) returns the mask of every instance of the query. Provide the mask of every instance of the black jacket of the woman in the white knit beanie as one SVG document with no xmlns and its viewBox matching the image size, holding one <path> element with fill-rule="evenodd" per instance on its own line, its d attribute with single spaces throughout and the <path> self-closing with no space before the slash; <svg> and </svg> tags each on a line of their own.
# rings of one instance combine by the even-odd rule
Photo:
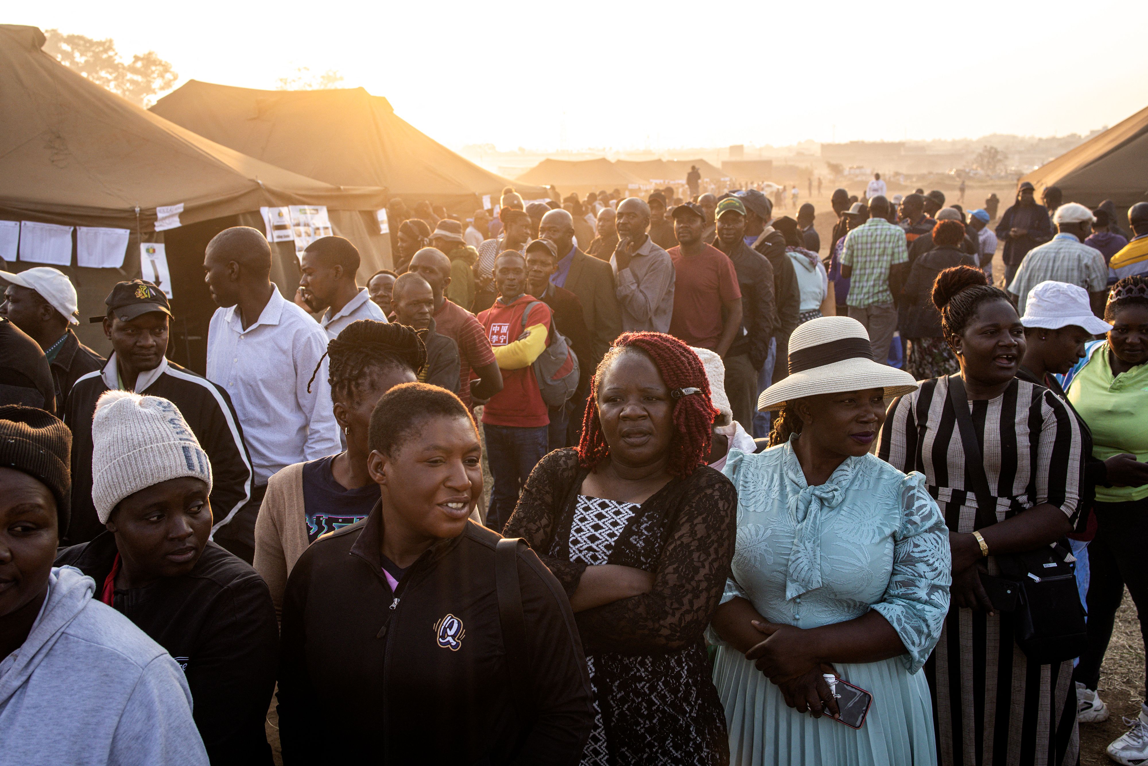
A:
<svg viewBox="0 0 1148 766">
<path fill-rule="evenodd" d="M 99 597 L 117 552 L 115 535 L 104 532 L 61 550 L 56 566 L 95 580 Z M 116 590 L 113 605 L 184 668 L 211 766 L 271 766 L 263 721 L 276 687 L 279 634 L 263 578 L 209 542 L 189 574 Z"/>
</svg>

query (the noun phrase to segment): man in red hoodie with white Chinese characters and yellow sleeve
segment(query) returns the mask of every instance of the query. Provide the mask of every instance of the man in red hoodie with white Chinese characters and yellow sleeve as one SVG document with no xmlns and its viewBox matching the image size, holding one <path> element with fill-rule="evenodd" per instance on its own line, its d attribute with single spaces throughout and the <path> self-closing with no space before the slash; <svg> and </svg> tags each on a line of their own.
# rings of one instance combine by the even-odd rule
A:
<svg viewBox="0 0 1148 766">
<path fill-rule="evenodd" d="M 521 253 L 501 253 L 495 258 L 494 279 L 498 300 L 479 314 L 479 322 L 494 348 L 503 388 L 482 408 L 482 431 L 495 478 L 487 526 L 502 532 L 530 471 L 546 454 L 550 416 L 533 365 L 550 341 L 551 312 L 526 293 Z"/>
</svg>

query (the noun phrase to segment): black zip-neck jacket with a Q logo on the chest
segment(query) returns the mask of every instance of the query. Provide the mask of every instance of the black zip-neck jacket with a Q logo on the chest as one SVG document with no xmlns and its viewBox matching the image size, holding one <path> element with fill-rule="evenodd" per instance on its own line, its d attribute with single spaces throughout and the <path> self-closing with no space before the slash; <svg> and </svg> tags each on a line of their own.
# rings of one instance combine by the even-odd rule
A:
<svg viewBox="0 0 1148 766">
<path fill-rule="evenodd" d="M 533 724 L 510 691 L 498 534 L 468 523 L 391 591 L 381 505 L 317 540 L 287 580 L 279 666 L 284 764 L 576 764 L 594 709 L 561 586 L 518 554 Z"/>
</svg>

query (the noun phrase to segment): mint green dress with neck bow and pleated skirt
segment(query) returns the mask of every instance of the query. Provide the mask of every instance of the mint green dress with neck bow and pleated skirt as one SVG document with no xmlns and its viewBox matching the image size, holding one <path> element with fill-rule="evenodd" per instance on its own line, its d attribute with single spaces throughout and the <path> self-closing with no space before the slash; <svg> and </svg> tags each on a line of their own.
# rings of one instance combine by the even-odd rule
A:
<svg viewBox="0 0 1148 766">
<path fill-rule="evenodd" d="M 836 665 L 872 694 L 861 729 L 815 719 L 742 652 L 719 643 L 714 684 L 732 766 L 932 766 L 929 684 L 921 666 L 948 612 L 948 529 L 918 473 L 872 455 L 851 457 L 829 481 L 806 485 L 790 443 L 758 455 L 731 450 L 737 546 L 722 601 L 747 598 L 770 622 L 815 628 L 881 612 L 907 653 Z"/>
</svg>

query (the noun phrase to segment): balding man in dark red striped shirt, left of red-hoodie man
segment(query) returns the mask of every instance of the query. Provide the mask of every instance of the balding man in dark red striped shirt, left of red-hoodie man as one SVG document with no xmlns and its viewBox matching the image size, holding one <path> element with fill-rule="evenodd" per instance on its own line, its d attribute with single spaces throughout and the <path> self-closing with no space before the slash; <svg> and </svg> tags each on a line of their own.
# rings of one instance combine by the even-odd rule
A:
<svg viewBox="0 0 1148 766">
<path fill-rule="evenodd" d="M 425 247 L 411 258 L 408 271 L 417 273 L 430 285 L 434 293 L 435 332 L 458 343 L 458 397 L 467 407 L 481 404 L 502 390 L 502 372 L 479 320 L 443 295 L 450 284 L 450 258 L 441 250 Z M 478 380 L 472 381 L 474 377 Z M 478 401 L 473 401 L 472 395 Z"/>
</svg>

